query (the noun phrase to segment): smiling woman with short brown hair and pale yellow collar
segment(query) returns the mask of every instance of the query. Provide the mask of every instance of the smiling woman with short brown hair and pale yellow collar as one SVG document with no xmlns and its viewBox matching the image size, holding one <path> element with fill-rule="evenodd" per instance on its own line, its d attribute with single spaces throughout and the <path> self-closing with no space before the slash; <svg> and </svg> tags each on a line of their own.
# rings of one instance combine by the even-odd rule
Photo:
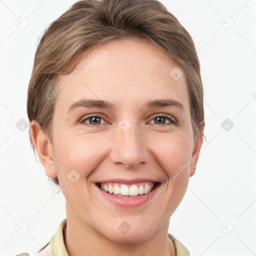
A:
<svg viewBox="0 0 256 256">
<path fill-rule="evenodd" d="M 73 4 L 40 40 L 27 112 L 66 199 L 36 255 L 189 255 L 168 224 L 195 172 L 203 89 L 192 38 L 160 2 Z"/>
</svg>

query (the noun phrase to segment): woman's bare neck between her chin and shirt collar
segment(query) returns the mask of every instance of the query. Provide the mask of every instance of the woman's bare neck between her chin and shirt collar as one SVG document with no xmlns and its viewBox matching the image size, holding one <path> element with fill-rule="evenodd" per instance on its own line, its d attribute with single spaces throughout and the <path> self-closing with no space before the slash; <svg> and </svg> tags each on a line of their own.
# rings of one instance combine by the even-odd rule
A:
<svg viewBox="0 0 256 256">
<path fill-rule="evenodd" d="M 133 256 L 136 255 L 151 256 L 175 256 L 175 247 L 172 240 L 168 237 L 168 224 L 164 225 L 153 237 L 136 243 L 118 243 L 116 237 L 105 237 L 97 230 L 80 218 L 73 211 L 66 212 L 67 224 L 63 230 L 64 244 L 68 256 Z"/>
</svg>

